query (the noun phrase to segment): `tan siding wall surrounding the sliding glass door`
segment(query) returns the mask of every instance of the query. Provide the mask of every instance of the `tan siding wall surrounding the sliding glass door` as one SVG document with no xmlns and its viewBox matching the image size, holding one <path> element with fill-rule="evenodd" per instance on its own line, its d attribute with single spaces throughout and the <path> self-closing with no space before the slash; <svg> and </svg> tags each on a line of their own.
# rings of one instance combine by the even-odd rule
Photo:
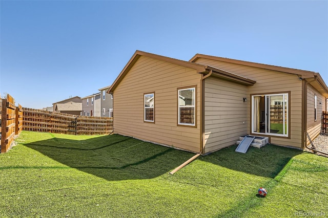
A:
<svg viewBox="0 0 328 218">
<path fill-rule="evenodd" d="M 247 132 L 250 134 L 251 129 L 251 106 L 250 99 L 255 94 L 268 93 L 286 93 L 290 92 L 290 135 L 289 137 L 274 137 L 270 136 L 272 144 L 301 147 L 302 135 L 302 82 L 297 75 L 282 73 L 273 70 L 260 69 L 250 66 L 243 66 L 236 63 L 228 63 L 206 58 L 198 58 L 195 63 L 201 63 L 215 68 L 219 68 L 243 77 L 255 80 L 256 83 L 248 86 L 248 116 L 247 116 Z M 261 135 L 265 136 L 265 135 Z"/>
</svg>

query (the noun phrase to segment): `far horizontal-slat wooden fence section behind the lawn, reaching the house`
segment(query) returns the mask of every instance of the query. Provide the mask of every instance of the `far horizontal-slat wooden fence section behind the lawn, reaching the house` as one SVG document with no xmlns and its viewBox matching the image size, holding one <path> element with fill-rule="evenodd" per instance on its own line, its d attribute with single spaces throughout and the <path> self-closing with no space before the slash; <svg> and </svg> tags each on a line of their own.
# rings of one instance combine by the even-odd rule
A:
<svg viewBox="0 0 328 218">
<path fill-rule="evenodd" d="M 105 135 L 113 132 L 113 118 L 77 116 L 23 107 L 23 130 L 70 135 Z"/>
</svg>

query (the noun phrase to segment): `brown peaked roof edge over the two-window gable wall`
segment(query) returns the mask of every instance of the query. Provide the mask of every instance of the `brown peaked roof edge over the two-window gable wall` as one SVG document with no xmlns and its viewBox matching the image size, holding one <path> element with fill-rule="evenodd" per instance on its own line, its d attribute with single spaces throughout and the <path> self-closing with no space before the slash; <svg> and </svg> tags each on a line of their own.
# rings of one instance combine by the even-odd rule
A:
<svg viewBox="0 0 328 218">
<path fill-rule="evenodd" d="M 130 60 L 128 61 L 128 63 L 124 67 L 124 69 L 120 72 L 118 77 L 115 79 L 115 81 L 113 82 L 113 84 L 111 85 L 111 87 L 109 88 L 107 93 L 112 93 L 113 92 L 113 90 L 116 88 L 116 86 L 119 84 L 119 82 L 124 78 L 124 76 L 129 72 L 129 70 L 132 68 L 133 64 L 138 60 L 138 58 L 140 56 L 151 57 L 151 58 L 154 58 L 154 59 L 157 59 L 157 60 L 162 60 L 162 61 L 178 64 L 179 66 L 195 69 L 197 73 L 208 74 L 210 71 L 212 71 L 212 72 L 215 72 L 217 76 L 221 75 L 222 77 L 224 77 L 226 79 L 229 78 L 231 80 L 241 82 L 241 83 L 244 83 L 244 84 L 254 84 L 256 82 L 254 80 L 251 80 L 251 79 L 248 79 L 248 78 L 245 78 L 245 77 L 230 73 L 228 71 L 223 71 L 223 70 L 211 67 L 211 66 L 206 66 L 206 65 L 203 65 L 203 64 L 199 64 L 199 63 L 193 63 L 193 62 L 190 62 L 190 61 L 179 60 L 179 59 L 175 59 L 175 58 L 171 58 L 171 57 L 161 56 L 161 55 L 152 54 L 152 53 L 137 50 L 132 55 L 132 57 L 130 58 Z"/>
</svg>

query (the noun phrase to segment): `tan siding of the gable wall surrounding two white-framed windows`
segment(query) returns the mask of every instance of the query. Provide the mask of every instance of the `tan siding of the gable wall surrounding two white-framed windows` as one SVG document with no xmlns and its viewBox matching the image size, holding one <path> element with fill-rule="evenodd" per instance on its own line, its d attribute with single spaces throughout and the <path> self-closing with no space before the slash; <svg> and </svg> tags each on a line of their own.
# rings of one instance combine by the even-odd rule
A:
<svg viewBox="0 0 328 218">
<path fill-rule="evenodd" d="M 177 126 L 177 88 L 197 87 L 196 128 Z M 155 93 L 154 123 L 144 122 L 144 93 Z M 114 133 L 199 152 L 200 74 L 140 56 L 114 90 Z"/>
</svg>

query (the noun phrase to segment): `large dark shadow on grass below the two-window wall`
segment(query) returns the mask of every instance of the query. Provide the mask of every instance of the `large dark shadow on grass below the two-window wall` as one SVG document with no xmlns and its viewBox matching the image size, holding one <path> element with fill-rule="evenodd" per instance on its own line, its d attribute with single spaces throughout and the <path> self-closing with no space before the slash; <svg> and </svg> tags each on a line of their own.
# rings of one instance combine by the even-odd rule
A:
<svg viewBox="0 0 328 218">
<path fill-rule="evenodd" d="M 109 181 L 158 177 L 194 155 L 120 135 L 82 141 L 52 138 L 25 146 Z"/>
</svg>

